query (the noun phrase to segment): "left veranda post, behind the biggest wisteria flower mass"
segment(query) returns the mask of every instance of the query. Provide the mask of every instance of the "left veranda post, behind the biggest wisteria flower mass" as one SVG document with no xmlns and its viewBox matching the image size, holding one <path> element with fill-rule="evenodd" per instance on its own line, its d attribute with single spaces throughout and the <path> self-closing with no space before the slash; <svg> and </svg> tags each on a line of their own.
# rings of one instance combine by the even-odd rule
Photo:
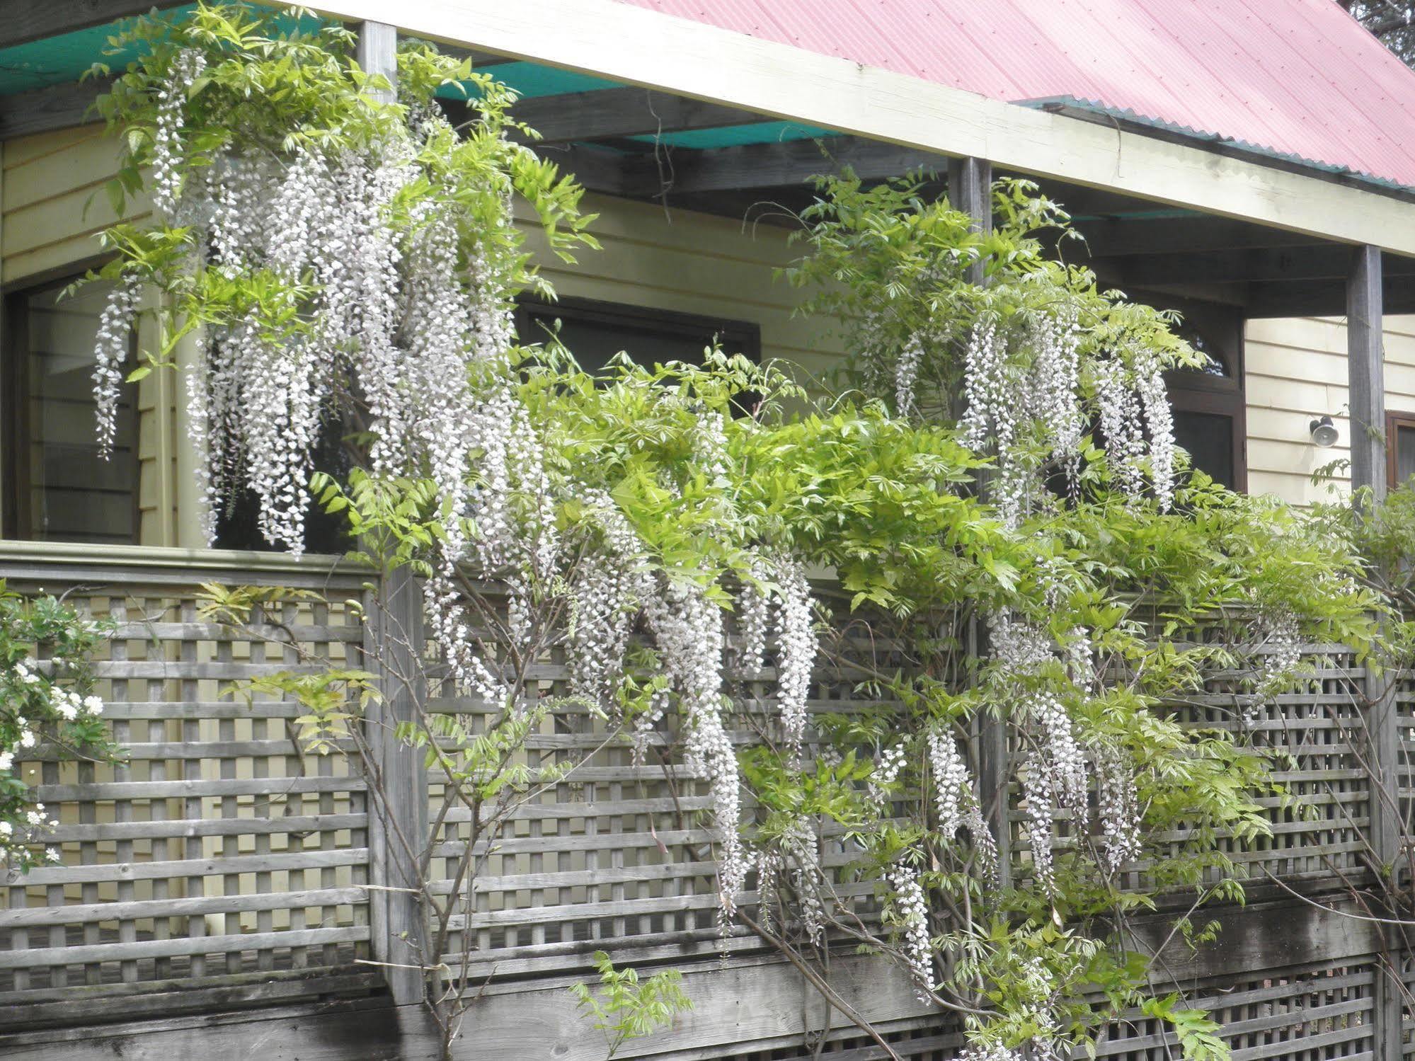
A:
<svg viewBox="0 0 1415 1061">
<path fill-rule="evenodd" d="M 362 23 L 358 64 L 396 85 L 398 31 L 383 23 Z M 371 88 L 382 102 L 396 92 Z M 383 700 L 369 709 L 368 741 L 376 771 L 369 792 L 369 857 L 375 888 L 369 895 L 374 959 L 385 962 L 389 992 L 398 1004 L 423 1002 L 420 966 L 437 955 L 424 953 L 426 924 L 419 900 L 427 836 L 427 774 L 416 748 L 398 738 L 400 723 L 415 720 L 423 692 L 423 605 L 409 569 L 385 574 L 366 615 L 365 651 L 369 669 L 382 680 Z"/>
</svg>

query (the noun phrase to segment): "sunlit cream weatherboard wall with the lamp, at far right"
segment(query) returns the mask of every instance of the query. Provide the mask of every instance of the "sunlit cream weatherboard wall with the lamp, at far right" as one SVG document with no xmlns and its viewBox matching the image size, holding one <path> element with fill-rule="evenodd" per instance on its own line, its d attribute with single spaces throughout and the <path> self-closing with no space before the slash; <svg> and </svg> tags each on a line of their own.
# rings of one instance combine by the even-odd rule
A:
<svg viewBox="0 0 1415 1061">
<path fill-rule="evenodd" d="M 1348 454 L 1346 324 L 1332 317 L 1249 321 L 1245 342 L 1248 396 L 1248 488 L 1312 504 L 1348 488 L 1346 470 L 1332 482 L 1312 474 Z M 1385 407 L 1415 412 L 1415 317 L 1385 327 Z M 1330 416 L 1340 440 L 1317 448 L 1307 434 L 1316 416 Z"/>
</svg>

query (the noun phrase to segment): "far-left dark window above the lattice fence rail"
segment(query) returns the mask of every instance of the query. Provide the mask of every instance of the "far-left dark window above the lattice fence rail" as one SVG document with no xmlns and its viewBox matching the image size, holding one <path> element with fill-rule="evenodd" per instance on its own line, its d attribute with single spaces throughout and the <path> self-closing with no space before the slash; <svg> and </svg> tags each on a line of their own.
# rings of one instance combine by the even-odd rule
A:
<svg viewBox="0 0 1415 1061">
<path fill-rule="evenodd" d="M 95 282 L 64 297 L 74 279 L 6 297 L 4 535 L 132 545 L 139 533 L 137 386 L 120 388 L 113 451 L 105 461 L 93 347 L 112 284 Z M 133 342 L 136 355 L 136 335 Z"/>
</svg>

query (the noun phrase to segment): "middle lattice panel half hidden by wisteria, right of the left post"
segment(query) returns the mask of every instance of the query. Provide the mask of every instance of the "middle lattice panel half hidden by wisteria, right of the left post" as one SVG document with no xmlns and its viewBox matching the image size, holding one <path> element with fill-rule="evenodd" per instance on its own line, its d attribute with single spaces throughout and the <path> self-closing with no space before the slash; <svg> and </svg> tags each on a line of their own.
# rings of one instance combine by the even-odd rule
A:
<svg viewBox="0 0 1415 1061">
<path fill-rule="evenodd" d="M 883 658 L 883 651 L 877 642 L 846 642 L 842 649 L 869 652 L 876 665 L 893 671 L 899 659 Z M 541 663 L 535 673 L 536 695 L 566 693 L 569 675 L 558 659 Z M 856 692 L 859 678 L 848 665 L 845 672 L 833 668 L 819 675 L 809 710 L 839 714 L 882 706 Z M 777 716 L 775 672 L 767 666 L 739 675 L 729 692 L 736 705 L 730 733 L 741 746 Z M 488 719 L 484 703 L 466 697 L 443 696 L 434 700 L 434 710 L 457 712 L 477 731 Z M 498 837 L 484 842 L 491 850 L 471 886 L 473 938 L 461 935 L 467 917 L 458 912 L 444 961 L 456 968 L 466 958 L 477 966 L 494 966 L 498 976 L 515 976 L 584 968 L 589 955 L 600 949 L 610 951 L 616 962 L 760 949 L 761 942 L 743 925 L 719 925 L 717 832 L 709 784 L 685 763 L 679 736 L 676 720 L 665 719 L 635 761 L 625 740 L 606 743 L 608 727 L 584 707 L 566 705 L 549 712 L 526 740 L 526 765 L 541 770 L 573 763 L 574 770 L 521 806 Z M 807 758 L 814 751 L 808 734 Z M 434 822 L 443 784 L 436 771 L 429 775 Z M 743 813 L 750 816 L 751 811 L 744 799 Z M 466 812 L 451 813 L 433 837 L 434 877 L 447 881 L 453 876 L 451 860 L 464 850 L 468 825 Z M 824 829 L 821 862 L 835 893 L 869 921 L 877 915 L 874 888 L 852 880 L 857 857 L 839 829 Z M 751 873 L 740 903 L 760 917 L 756 887 L 757 874 Z M 443 888 L 446 894 L 450 884 Z"/>
</svg>

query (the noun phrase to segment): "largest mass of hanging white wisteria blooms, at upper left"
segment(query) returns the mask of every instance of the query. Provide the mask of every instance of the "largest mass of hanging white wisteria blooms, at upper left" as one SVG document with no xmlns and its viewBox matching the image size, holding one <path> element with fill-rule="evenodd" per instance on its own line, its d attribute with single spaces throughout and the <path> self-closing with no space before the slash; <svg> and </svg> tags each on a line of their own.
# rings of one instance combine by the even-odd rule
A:
<svg viewBox="0 0 1415 1061">
<path fill-rule="evenodd" d="M 265 58 L 175 47 L 153 59 L 166 65 L 151 95 L 119 96 L 153 123 L 150 144 L 134 150 L 151 167 L 160 239 L 125 236 L 130 260 L 109 270 L 122 279 L 96 347 L 100 446 L 112 444 L 142 286 L 154 283 L 175 291 L 175 324 L 204 325 L 187 392 L 209 511 L 249 489 L 262 535 L 299 553 L 313 454 L 331 433 L 361 426 L 375 472 L 437 484 L 456 516 L 453 556 L 470 545 L 461 540 L 468 518 L 478 526 L 475 559 L 519 563 L 505 512 L 516 475 L 505 468 L 518 467 L 522 480 L 536 471 L 508 365 L 525 265 L 507 248 L 515 242 L 511 160 L 525 149 L 504 139 L 492 109 L 473 147 L 427 100 L 381 110 L 352 78 L 352 117 L 337 130 L 283 98 L 232 99 L 216 88 L 221 72 Z M 320 74 L 341 76 L 328 66 Z M 212 120 L 225 124 L 225 144 L 212 146 Z M 270 126 L 287 130 L 283 143 L 258 132 Z M 362 424 L 345 419 L 351 399 Z M 468 474 L 474 464 L 480 475 Z M 542 563 L 552 523 L 541 521 L 531 549 Z M 204 519 L 208 539 L 216 525 Z"/>
</svg>

